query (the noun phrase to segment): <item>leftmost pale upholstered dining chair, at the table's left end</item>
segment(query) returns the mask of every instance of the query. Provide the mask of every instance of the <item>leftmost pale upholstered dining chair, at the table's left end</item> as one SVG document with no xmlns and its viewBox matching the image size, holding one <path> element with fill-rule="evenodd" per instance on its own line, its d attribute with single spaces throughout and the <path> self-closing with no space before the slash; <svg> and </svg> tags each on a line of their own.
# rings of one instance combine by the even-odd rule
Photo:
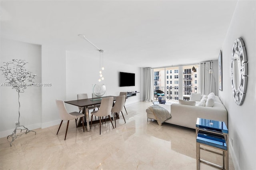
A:
<svg viewBox="0 0 256 170">
<path fill-rule="evenodd" d="M 78 113 L 78 112 L 68 113 L 63 100 L 56 99 L 56 105 L 58 107 L 59 115 L 60 115 L 60 119 L 61 119 L 60 127 L 61 127 L 63 121 L 68 121 L 68 124 L 69 124 L 70 120 L 74 120 L 74 119 L 76 120 L 81 117 L 83 130 L 84 130 L 84 114 Z M 66 136 L 67 136 L 67 132 L 68 132 L 68 124 L 67 124 L 67 128 L 66 128 L 66 134 L 65 134 L 64 140 L 66 140 Z M 60 127 L 58 129 L 58 132 L 60 130 Z M 77 127 L 77 125 L 76 125 L 76 127 Z M 58 134 L 58 132 L 57 132 L 57 134 Z"/>
</svg>

